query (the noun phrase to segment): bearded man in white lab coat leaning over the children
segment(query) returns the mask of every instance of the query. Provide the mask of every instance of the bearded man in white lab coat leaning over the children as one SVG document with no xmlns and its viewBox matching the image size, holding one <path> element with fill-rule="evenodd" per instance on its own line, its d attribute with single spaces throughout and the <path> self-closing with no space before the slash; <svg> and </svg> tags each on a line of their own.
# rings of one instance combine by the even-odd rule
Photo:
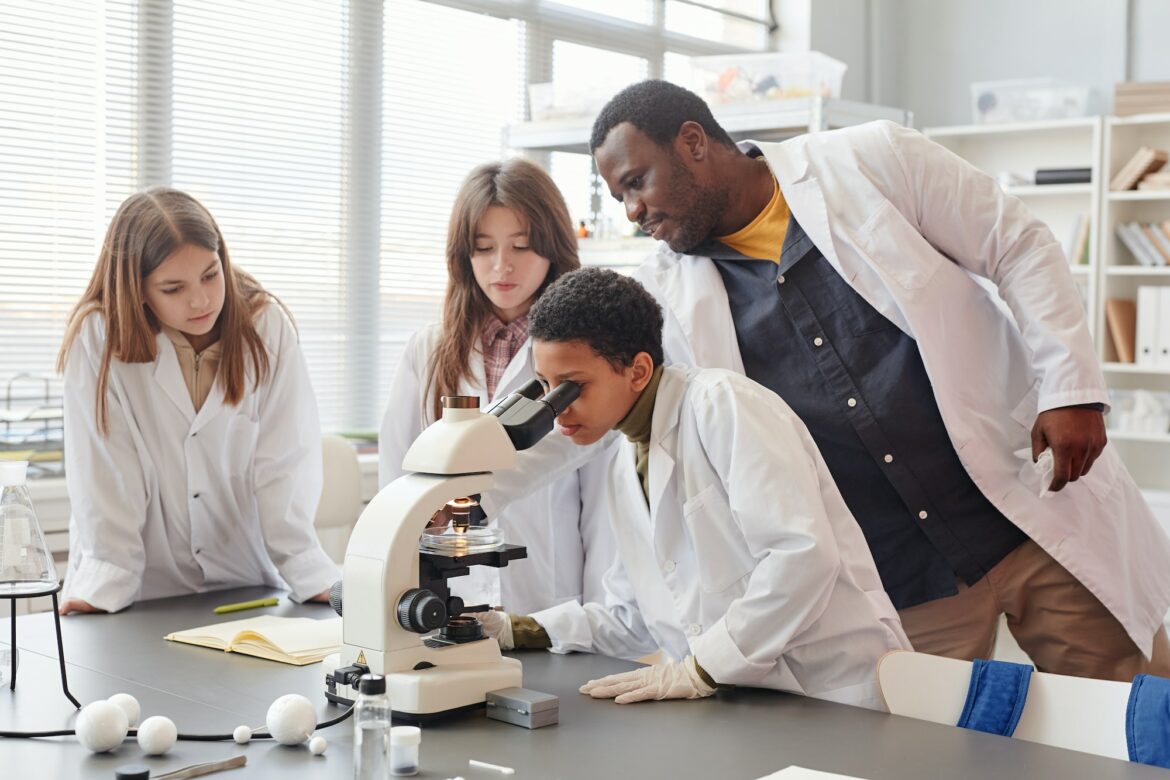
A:
<svg viewBox="0 0 1170 780">
<path fill-rule="evenodd" d="M 737 146 L 661 81 L 618 94 L 591 150 L 660 242 L 636 276 L 667 360 L 800 416 L 916 649 L 989 657 L 1006 614 L 1042 670 L 1170 672 L 1170 544 L 1106 446 L 1060 244 L 1017 199 L 886 122 Z"/>
</svg>

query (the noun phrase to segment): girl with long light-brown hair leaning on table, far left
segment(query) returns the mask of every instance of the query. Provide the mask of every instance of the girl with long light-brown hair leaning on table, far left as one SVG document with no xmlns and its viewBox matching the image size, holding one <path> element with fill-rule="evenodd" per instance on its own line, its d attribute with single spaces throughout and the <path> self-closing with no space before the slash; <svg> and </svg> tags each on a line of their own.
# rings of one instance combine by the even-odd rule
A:
<svg viewBox="0 0 1170 780">
<path fill-rule="evenodd" d="M 321 427 L 283 306 L 201 203 L 122 203 L 69 318 L 61 613 L 245 585 L 324 600 Z"/>
</svg>

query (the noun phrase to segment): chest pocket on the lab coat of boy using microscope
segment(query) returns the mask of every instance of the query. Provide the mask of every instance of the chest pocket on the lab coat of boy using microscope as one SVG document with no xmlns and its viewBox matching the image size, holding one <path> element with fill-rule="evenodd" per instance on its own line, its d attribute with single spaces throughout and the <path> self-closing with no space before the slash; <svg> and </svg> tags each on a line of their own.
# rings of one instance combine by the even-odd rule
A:
<svg viewBox="0 0 1170 780">
<path fill-rule="evenodd" d="M 698 587 L 722 593 L 755 567 L 722 485 L 710 484 L 682 505 L 682 519 L 694 546 Z"/>
</svg>

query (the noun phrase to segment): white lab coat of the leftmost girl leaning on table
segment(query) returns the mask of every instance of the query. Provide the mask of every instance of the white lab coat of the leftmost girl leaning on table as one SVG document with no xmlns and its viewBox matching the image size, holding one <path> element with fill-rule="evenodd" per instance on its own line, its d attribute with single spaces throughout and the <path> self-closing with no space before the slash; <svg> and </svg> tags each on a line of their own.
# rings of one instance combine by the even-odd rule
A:
<svg viewBox="0 0 1170 780">
<path fill-rule="evenodd" d="M 215 382 L 199 413 L 174 345 L 110 364 L 110 433 L 94 400 L 105 325 L 90 316 L 66 361 L 69 568 L 64 596 L 110 612 L 137 599 L 245 585 L 303 601 L 340 574 L 317 541 L 321 424 L 296 331 L 276 305 L 256 318 L 270 373 L 238 406 Z"/>
</svg>

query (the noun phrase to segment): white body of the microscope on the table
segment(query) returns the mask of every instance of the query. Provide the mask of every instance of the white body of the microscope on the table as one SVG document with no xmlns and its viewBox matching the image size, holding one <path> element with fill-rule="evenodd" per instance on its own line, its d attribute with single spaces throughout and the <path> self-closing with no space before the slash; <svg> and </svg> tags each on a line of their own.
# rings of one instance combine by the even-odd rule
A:
<svg viewBox="0 0 1170 780">
<path fill-rule="evenodd" d="M 434 623 L 434 610 L 442 600 L 419 589 L 419 536 L 449 499 L 484 492 L 491 488 L 493 471 L 514 468 L 517 446 L 512 440 L 528 434 L 530 441 L 519 446 L 524 448 L 543 436 L 577 391 L 559 394 L 571 395 L 559 408 L 529 400 L 535 394 L 509 398 L 521 406 L 531 405 L 529 412 L 543 407 L 543 429 L 535 439 L 537 426 L 530 424 L 531 415 L 517 426 L 524 432 L 510 436 L 510 427 L 495 416 L 500 407 L 490 414 L 477 408 L 443 408 L 442 417 L 422 432 L 402 461 L 413 474 L 383 488 L 353 529 L 342 574 L 343 646 L 339 658 L 326 660 L 326 671 L 333 674 L 330 661 L 337 658 L 337 668 L 365 665 L 385 675 L 395 717 L 425 718 L 470 709 L 482 704 L 489 691 L 522 685 L 519 661 L 503 657 L 493 639 L 457 644 L 424 639 L 424 633 L 438 627 L 424 629 L 421 623 L 428 617 L 424 613 L 431 610 Z M 442 624 L 442 619 L 438 620 Z M 356 679 L 352 685 L 326 679 L 335 700 L 357 697 Z"/>
</svg>

